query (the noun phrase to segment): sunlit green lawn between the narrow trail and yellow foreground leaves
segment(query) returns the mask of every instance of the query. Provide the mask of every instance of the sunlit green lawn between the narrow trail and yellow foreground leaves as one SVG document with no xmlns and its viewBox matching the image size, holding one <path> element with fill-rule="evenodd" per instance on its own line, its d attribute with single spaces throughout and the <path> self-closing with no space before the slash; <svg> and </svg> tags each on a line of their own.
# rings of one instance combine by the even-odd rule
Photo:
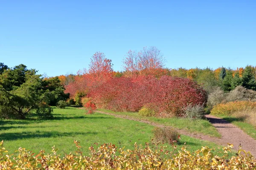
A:
<svg viewBox="0 0 256 170">
<path fill-rule="evenodd" d="M 114 116 L 95 113 L 86 115 L 84 109 L 67 108 L 53 109 L 53 119 L 37 120 L 0 120 L 0 140 L 13 153 L 19 147 L 26 147 L 38 153 L 51 147 L 59 148 L 59 153 L 70 153 L 76 150 L 74 140 L 81 142 L 84 153 L 88 154 L 88 147 L 94 143 L 113 143 L 118 147 L 132 149 L 134 142 L 144 144 L 153 138 L 153 126 Z M 181 136 L 178 148 L 186 142 L 189 150 L 200 149 L 201 146 L 219 146 L 212 142 L 205 142 L 188 136 Z M 171 147 L 169 146 L 169 149 Z M 215 151 L 219 153 L 221 149 Z"/>
</svg>

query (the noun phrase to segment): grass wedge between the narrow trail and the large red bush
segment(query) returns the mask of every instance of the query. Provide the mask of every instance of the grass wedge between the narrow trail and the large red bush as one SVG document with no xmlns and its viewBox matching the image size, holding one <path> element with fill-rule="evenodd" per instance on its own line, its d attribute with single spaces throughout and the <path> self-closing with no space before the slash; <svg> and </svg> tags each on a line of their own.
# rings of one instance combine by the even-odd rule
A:
<svg viewBox="0 0 256 170">
<path fill-rule="evenodd" d="M 117 115 L 129 116 L 136 119 L 144 119 L 151 122 L 159 123 L 166 126 L 172 126 L 179 129 L 185 129 L 190 132 L 202 133 L 204 135 L 214 136 L 221 138 L 221 134 L 218 133 L 216 128 L 206 119 L 189 120 L 183 118 L 156 118 L 156 117 L 145 117 L 140 116 L 137 112 L 114 112 L 106 109 L 99 109 L 108 113 L 114 113 Z"/>
</svg>

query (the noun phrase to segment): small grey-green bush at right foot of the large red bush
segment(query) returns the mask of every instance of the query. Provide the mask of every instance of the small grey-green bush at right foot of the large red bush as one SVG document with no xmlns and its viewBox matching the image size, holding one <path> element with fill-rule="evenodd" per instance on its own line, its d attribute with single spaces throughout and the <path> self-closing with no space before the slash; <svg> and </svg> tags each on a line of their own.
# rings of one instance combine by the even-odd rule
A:
<svg viewBox="0 0 256 170">
<path fill-rule="evenodd" d="M 188 119 L 201 119 L 204 116 L 203 105 L 188 105 L 185 110 L 185 117 Z"/>
</svg>

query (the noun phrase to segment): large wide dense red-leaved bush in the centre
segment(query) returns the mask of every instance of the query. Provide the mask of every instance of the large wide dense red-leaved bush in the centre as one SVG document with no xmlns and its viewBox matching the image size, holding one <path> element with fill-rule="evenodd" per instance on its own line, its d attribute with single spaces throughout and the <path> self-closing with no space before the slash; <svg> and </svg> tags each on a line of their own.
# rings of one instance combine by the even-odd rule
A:
<svg viewBox="0 0 256 170">
<path fill-rule="evenodd" d="M 139 111 L 150 104 L 158 116 L 183 116 L 188 105 L 203 105 L 206 92 L 186 78 L 163 76 L 114 77 L 90 89 L 99 108 Z"/>
</svg>

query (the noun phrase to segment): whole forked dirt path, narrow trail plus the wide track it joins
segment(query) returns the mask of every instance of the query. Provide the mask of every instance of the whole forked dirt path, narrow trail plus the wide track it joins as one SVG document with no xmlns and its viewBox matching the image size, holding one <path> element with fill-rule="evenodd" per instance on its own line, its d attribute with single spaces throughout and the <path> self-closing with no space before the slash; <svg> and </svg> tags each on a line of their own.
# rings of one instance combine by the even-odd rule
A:
<svg viewBox="0 0 256 170">
<path fill-rule="evenodd" d="M 148 120 L 135 119 L 129 116 L 116 115 L 113 113 L 107 113 L 102 111 L 97 111 L 97 112 L 119 117 L 122 119 L 129 119 L 129 120 L 134 120 L 138 122 L 143 122 L 143 123 L 147 123 L 149 125 L 153 125 L 157 127 L 170 127 L 170 126 L 160 125 L 155 122 L 150 122 Z M 206 115 L 206 117 L 207 119 L 209 119 L 212 125 L 217 128 L 218 132 L 221 133 L 222 138 L 211 137 L 211 136 L 207 136 L 200 133 L 191 133 L 187 130 L 180 130 L 177 128 L 175 128 L 175 130 L 177 130 L 180 134 L 201 139 L 201 140 L 215 142 L 216 144 L 220 144 L 223 146 L 227 146 L 228 143 L 231 143 L 234 145 L 235 150 L 238 150 L 239 144 L 241 144 L 244 150 L 250 151 L 254 156 L 256 156 L 256 140 L 252 139 L 250 136 L 245 134 L 241 129 L 232 125 L 231 123 L 228 123 L 223 119 L 220 119 L 211 115 Z"/>
</svg>

